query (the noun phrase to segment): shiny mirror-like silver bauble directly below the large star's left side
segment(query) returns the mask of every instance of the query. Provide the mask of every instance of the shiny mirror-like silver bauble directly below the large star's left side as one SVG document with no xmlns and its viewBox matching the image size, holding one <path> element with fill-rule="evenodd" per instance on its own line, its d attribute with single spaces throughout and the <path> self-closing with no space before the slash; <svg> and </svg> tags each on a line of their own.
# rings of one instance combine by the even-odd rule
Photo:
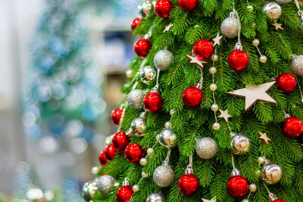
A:
<svg viewBox="0 0 303 202">
<path fill-rule="evenodd" d="M 249 151 L 250 139 L 243 134 L 236 134 L 230 142 L 231 149 L 235 155 L 244 155 Z"/>
</svg>

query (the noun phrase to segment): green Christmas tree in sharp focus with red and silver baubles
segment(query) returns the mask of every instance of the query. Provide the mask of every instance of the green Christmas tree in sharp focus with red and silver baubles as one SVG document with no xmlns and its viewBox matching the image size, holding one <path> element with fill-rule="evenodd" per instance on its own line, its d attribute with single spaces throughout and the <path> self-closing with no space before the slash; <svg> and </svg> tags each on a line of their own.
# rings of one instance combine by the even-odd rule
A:
<svg viewBox="0 0 303 202">
<path fill-rule="evenodd" d="M 303 201 L 300 9 L 297 0 L 143 2 L 132 84 L 84 198 Z"/>
</svg>

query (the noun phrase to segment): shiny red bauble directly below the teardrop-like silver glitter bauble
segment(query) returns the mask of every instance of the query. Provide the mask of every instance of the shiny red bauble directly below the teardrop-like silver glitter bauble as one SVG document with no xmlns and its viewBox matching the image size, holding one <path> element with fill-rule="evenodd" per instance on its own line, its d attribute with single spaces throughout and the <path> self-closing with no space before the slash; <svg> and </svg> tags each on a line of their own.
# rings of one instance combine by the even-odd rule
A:
<svg viewBox="0 0 303 202">
<path fill-rule="evenodd" d="M 227 58 L 228 66 L 234 71 L 242 71 L 247 67 L 248 62 L 247 54 L 239 49 L 235 49 Z"/>
</svg>

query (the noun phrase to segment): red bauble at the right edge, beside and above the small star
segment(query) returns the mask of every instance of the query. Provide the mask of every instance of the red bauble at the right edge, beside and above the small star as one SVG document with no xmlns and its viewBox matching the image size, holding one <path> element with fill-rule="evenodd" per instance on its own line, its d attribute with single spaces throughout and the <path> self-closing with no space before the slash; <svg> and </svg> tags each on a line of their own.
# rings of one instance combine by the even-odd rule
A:
<svg viewBox="0 0 303 202">
<path fill-rule="evenodd" d="M 282 132 L 286 137 L 296 138 L 300 136 L 302 131 L 303 124 L 299 119 L 295 117 L 289 117 L 283 123 Z"/>
</svg>

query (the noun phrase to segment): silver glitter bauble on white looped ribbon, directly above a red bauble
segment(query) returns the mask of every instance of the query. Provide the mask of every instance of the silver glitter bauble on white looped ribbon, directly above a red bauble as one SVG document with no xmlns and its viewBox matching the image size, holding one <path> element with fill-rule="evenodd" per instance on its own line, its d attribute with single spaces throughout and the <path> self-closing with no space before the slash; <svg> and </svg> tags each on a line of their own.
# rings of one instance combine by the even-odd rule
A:
<svg viewBox="0 0 303 202">
<path fill-rule="evenodd" d="M 229 17 L 221 23 L 221 32 L 227 38 L 235 38 L 238 36 L 239 22 L 235 13 L 229 13 Z"/>
</svg>

